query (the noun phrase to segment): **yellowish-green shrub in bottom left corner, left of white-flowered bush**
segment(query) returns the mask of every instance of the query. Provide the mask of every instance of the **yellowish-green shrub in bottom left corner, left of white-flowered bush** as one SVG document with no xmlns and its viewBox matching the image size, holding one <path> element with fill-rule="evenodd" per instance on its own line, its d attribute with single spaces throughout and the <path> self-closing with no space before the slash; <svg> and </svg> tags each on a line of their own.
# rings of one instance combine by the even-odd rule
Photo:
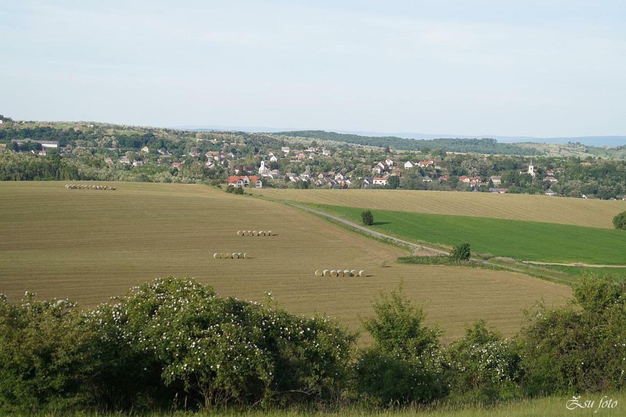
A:
<svg viewBox="0 0 626 417">
<path fill-rule="evenodd" d="M 81 326 L 76 304 L 22 304 L 0 294 L 0 411 L 37 413 L 83 406 L 90 401 L 90 376 L 98 367 L 92 334 Z"/>
</svg>

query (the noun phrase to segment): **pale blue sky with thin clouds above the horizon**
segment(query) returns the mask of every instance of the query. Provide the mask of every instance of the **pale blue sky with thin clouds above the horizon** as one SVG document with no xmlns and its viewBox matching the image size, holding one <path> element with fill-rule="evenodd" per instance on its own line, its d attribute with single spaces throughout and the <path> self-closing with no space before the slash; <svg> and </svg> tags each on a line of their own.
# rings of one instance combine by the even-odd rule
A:
<svg viewBox="0 0 626 417">
<path fill-rule="evenodd" d="M 0 113 L 625 135 L 625 4 L 0 0 Z"/>
</svg>

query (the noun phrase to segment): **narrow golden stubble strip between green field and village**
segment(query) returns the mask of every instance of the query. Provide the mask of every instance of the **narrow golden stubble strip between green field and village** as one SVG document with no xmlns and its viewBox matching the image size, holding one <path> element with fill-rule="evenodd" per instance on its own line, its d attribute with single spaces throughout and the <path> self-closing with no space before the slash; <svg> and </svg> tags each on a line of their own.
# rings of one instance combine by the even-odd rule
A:
<svg viewBox="0 0 626 417">
<path fill-rule="evenodd" d="M 613 217 L 626 210 L 626 202 L 622 201 L 527 194 L 278 188 L 253 189 L 251 192 L 275 200 L 405 212 L 531 220 L 604 229 L 613 229 Z"/>
</svg>

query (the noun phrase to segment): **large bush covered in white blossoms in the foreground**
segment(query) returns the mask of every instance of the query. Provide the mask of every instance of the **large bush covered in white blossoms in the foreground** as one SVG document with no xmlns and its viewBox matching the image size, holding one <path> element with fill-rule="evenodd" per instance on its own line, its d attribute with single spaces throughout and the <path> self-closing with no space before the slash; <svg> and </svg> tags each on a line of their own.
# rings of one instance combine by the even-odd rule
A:
<svg viewBox="0 0 626 417">
<path fill-rule="evenodd" d="M 346 379 L 354 336 L 326 317 L 222 298 L 172 277 L 117 301 L 90 312 L 103 340 L 205 408 L 328 398 Z"/>
</svg>

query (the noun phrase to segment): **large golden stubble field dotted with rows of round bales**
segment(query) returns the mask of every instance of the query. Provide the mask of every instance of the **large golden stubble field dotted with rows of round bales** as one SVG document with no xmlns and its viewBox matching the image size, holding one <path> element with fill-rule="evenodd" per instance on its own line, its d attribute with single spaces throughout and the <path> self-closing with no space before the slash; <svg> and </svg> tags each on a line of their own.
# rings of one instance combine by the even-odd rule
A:
<svg viewBox="0 0 626 417">
<path fill-rule="evenodd" d="M 155 277 L 187 275 L 224 296 L 264 301 L 271 291 L 291 312 L 327 313 L 358 329 L 377 292 L 402 277 L 446 339 L 480 318 L 513 334 L 522 309 L 570 295 L 568 287 L 509 272 L 395 264 L 401 250 L 280 203 L 203 185 L 114 184 L 115 191 L 99 191 L 0 183 L 0 292 L 14 302 L 28 290 L 93 305 Z M 243 229 L 277 235 L 238 236 Z M 213 252 L 252 259 L 213 259 Z M 370 276 L 314 276 L 324 268 Z"/>
</svg>

